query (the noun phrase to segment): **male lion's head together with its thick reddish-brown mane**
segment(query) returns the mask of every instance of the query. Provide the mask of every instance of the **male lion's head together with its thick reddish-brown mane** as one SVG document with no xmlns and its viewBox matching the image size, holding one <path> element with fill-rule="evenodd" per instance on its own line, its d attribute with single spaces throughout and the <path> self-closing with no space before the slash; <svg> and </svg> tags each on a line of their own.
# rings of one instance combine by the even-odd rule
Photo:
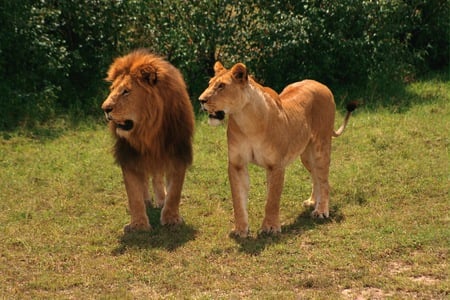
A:
<svg viewBox="0 0 450 300">
<path fill-rule="evenodd" d="M 177 156 L 172 148 L 190 144 L 192 105 L 177 68 L 140 49 L 115 59 L 106 80 L 111 86 L 102 109 L 114 136 L 141 154 L 159 156 Z"/>
</svg>

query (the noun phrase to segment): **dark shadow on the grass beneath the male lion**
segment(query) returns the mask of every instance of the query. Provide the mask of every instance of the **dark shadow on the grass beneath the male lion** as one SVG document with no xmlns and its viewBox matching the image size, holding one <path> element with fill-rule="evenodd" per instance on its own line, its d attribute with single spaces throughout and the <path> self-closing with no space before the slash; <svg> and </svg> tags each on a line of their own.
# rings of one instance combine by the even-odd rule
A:
<svg viewBox="0 0 450 300">
<path fill-rule="evenodd" d="M 124 233 L 119 237 L 120 245 L 111 252 L 113 255 L 122 255 L 127 250 L 136 248 L 161 248 L 174 251 L 188 241 L 194 240 L 197 235 L 197 230 L 185 223 L 176 226 L 162 226 L 159 222 L 160 208 L 147 208 L 147 214 L 152 230 Z"/>
</svg>

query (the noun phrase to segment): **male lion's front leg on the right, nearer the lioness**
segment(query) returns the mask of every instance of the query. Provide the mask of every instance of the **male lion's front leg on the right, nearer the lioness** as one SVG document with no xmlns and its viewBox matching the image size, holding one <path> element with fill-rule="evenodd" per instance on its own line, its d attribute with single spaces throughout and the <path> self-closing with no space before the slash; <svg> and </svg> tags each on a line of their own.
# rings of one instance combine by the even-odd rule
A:
<svg viewBox="0 0 450 300">
<path fill-rule="evenodd" d="M 186 166 L 184 165 L 176 166 L 174 170 L 167 173 L 167 196 L 161 211 L 162 225 L 176 225 L 183 223 L 179 206 L 185 174 Z"/>
</svg>

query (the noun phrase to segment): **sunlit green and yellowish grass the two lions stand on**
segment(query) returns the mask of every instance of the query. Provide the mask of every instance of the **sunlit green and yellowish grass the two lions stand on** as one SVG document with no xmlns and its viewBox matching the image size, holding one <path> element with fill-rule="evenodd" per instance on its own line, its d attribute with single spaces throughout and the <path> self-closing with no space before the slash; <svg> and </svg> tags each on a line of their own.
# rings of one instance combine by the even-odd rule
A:
<svg viewBox="0 0 450 300">
<path fill-rule="evenodd" d="M 264 171 L 250 167 L 251 237 L 232 239 L 225 128 L 197 122 L 185 225 L 123 235 L 121 172 L 103 125 L 0 138 L 0 298 L 444 299 L 450 83 L 409 85 L 398 106 L 359 109 L 333 142 L 331 219 L 312 220 L 300 163 L 286 175 L 282 233 L 259 236 Z M 391 99 L 392 100 L 392 99 Z M 342 120 L 339 115 L 336 127 Z"/>
</svg>

